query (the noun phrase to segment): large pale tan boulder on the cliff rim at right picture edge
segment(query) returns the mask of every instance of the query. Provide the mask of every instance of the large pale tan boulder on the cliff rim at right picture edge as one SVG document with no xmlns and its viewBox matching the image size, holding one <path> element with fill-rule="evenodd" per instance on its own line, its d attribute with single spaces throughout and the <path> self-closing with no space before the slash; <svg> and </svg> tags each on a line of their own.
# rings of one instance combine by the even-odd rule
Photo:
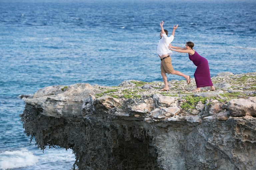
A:
<svg viewBox="0 0 256 170">
<path fill-rule="evenodd" d="M 256 97 L 248 99 L 231 99 L 228 110 L 233 117 L 256 116 Z"/>
</svg>

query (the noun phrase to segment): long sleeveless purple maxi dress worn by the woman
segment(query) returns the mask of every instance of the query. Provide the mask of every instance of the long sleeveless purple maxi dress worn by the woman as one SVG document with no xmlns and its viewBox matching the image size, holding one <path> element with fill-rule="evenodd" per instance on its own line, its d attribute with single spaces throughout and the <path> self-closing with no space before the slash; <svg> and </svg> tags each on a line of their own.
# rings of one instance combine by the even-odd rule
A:
<svg viewBox="0 0 256 170">
<path fill-rule="evenodd" d="M 213 86 L 207 59 L 200 56 L 196 51 L 193 55 L 188 54 L 188 57 L 197 66 L 194 73 L 196 87 Z"/>
</svg>

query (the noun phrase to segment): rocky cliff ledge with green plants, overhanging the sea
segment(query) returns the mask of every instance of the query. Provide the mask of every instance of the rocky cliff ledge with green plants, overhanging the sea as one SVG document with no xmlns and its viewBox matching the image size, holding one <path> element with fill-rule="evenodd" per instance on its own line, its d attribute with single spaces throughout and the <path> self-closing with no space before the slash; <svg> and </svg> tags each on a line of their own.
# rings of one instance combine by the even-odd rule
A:
<svg viewBox="0 0 256 170">
<path fill-rule="evenodd" d="M 24 98 L 27 136 L 71 148 L 79 170 L 256 169 L 256 72 L 195 81 L 50 86 Z"/>
</svg>

